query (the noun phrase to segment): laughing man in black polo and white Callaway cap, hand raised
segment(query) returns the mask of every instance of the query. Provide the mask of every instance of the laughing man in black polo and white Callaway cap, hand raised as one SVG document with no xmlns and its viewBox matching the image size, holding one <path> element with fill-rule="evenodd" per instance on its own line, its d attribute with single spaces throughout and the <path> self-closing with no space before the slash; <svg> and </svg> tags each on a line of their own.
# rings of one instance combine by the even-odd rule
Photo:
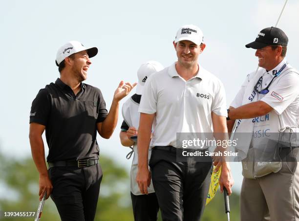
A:
<svg viewBox="0 0 299 221">
<path fill-rule="evenodd" d="M 59 48 L 56 65 L 61 77 L 41 89 L 32 102 L 29 139 L 40 174 L 39 196 L 55 202 L 62 220 L 92 221 L 102 179 L 98 164 L 97 131 L 109 138 L 118 119 L 119 101 L 133 86 L 123 81 L 116 89 L 109 113 L 101 90 L 82 83 L 98 53 L 72 41 Z M 42 134 L 49 147 L 47 171 Z"/>
</svg>

